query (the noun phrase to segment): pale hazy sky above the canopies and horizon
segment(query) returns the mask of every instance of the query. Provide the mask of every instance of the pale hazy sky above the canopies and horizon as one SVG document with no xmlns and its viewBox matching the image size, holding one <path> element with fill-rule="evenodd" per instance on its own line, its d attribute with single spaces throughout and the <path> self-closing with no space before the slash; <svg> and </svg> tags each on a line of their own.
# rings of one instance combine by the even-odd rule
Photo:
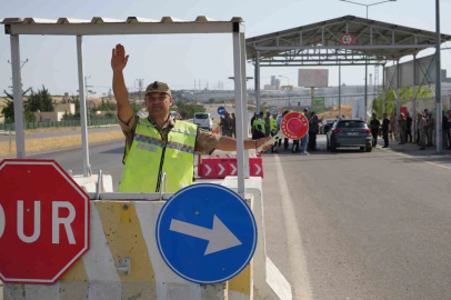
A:
<svg viewBox="0 0 451 300">
<path fill-rule="evenodd" d="M 359 0 L 362 3 L 374 3 L 374 0 Z M 392 22 L 400 26 L 435 30 L 435 0 L 398 0 L 370 8 L 370 19 Z M 173 17 L 183 20 L 196 20 L 207 16 L 216 20 L 229 21 L 241 17 L 245 24 L 245 37 L 285 30 L 348 14 L 365 17 L 365 8 L 339 0 L 0 0 L 0 19 L 12 17 L 33 17 L 58 19 L 61 17 L 91 20 L 92 17 L 104 17 L 126 20 L 128 17 L 142 17 L 160 20 Z M 441 0 L 442 33 L 451 34 L 451 1 Z M 1 26 L 3 27 L 3 26 Z M 2 30 L 2 32 L 4 32 Z M 156 80 L 168 82 L 172 89 L 193 89 L 194 80 L 207 83 L 214 89 L 223 82 L 224 89 L 232 89 L 233 76 L 232 37 L 231 34 L 173 34 L 173 36 L 108 36 L 84 37 L 84 73 L 88 84 L 98 96 L 108 92 L 111 87 L 110 67 L 111 49 L 122 43 L 130 54 L 124 70 L 126 84 L 134 90 L 138 79 L 144 86 Z M 443 47 L 450 47 L 445 43 Z M 76 37 L 21 36 L 21 60 L 28 59 L 22 68 L 24 88 L 34 90 L 46 86 L 51 94 L 76 93 L 78 90 L 77 43 Z M 419 57 L 433 53 L 427 50 Z M 11 83 L 10 37 L 0 33 L 0 94 L 9 90 Z M 451 77 L 451 50 L 442 51 L 442 69 Z M 290 78 L 290 83 L 298 81 L 298 68 L 261 68 L 261 86 L 270 83 L 271 76 Z M 338 68 L 329 68 L 329 84 L 338 86 Z M 369 68 L 373 73 L 373 68 Z M 253 77 L 254 67 L 247 64 L 247 76 Z M 288 79 L 280 78 L 282 84 Z M 342 68 L 342 82 L 363 84 L 364 67 Z M 248 81 L 248 87 L 253 87 Z"/>
</svg>

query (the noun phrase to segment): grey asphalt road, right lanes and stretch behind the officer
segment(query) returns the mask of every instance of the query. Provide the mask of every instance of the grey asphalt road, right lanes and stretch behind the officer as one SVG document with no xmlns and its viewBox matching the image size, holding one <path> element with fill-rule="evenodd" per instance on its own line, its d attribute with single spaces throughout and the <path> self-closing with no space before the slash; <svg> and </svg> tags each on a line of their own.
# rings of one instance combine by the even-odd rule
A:
<svg viewBox="0 0 451 300">
<path fill-rule="evenodd" d="M 451 158 L 377 149 L 263 154 L 267 253 L 294 299 L 450 299 Z M 123 142 L 90 148 L 122 170 Z M 81 172 L 80 150 L 56 159 Z"/>
</svg>

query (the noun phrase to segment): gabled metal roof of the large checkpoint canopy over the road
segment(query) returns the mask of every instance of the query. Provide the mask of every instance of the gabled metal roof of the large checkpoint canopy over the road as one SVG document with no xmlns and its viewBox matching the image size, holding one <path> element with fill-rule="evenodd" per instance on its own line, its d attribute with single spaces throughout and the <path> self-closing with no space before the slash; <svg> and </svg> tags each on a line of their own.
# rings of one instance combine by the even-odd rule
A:
<svg viewBox="0 0 451 300">
<path fill-rule="evenodd" d="M 353 36 L 343 46 L 344 33 Z M 442 42 L 451 36 L 441 34 Z M 435 44 L 435 32 L 354 16 L 277 31 L 245 40 L 249 60 L 260 52 L 261 66 L 335 66 L 384 63 Z"/>
</svg>

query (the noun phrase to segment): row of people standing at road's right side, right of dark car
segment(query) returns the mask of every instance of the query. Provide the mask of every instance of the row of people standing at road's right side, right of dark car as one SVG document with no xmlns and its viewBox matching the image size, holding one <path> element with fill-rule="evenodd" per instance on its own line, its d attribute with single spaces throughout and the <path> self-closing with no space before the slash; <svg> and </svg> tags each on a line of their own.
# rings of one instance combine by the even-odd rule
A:
<svg viewBox="0 0 451 300">
<path fill-rule="evenodd" d="M 417 140 L 413 140 L 412 126 L 414 120 L 410 117 L 409 112 L 400 113 L 399 119 L 394 113 L 390 119 L 387 113 L 383 113 L 382 119 L 382 136 L 384 146 L 389 147 L 389 138 L 391 140 L 399 140 L 399 144 L 417 142 L 420 146 L 420 150 L 425 150 L 427 147 L 433 147 L 435 119 L 432 112 L 425 109 L 422 112 L 417 113 Z M 375 113 L 372 114 L 370 121 L 370 129 L 372 133 L 372 146 L 377 147 L 379 128 L 381 123 L 378 120 Z M 451 110 L 442 114 L 442 130 L 443 130 L 443 148 L 451 150 Z"/>
</svg>

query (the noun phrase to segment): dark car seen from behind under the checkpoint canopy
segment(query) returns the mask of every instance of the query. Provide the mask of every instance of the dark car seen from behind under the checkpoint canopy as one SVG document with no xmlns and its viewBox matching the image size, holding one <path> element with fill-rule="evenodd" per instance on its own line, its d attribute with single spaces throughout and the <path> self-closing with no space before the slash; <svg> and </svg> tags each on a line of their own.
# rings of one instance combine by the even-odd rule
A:
<svg viewBox="0 0 451 300">
<path fill-rule="evenodd" d="M 360 147 L 371 152 L 371 130 L 360 119 L 338 119 L 327 133 L 327 147 L 334 152 L 337 148 Z"/>
</svg>

